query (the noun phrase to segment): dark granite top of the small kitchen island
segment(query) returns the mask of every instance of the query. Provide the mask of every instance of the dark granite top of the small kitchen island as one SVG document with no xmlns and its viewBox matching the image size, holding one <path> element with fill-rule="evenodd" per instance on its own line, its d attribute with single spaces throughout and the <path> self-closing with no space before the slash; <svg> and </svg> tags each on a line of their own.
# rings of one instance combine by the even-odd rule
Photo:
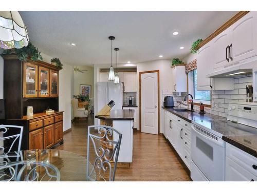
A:
<svg viewBox="0 0 257 192">
<path fill-rule="evenodd" d="M 96 115 L 103 120 L 134 120 L 134 110 L 111 110 L 110 115 Z"/>
</svg>

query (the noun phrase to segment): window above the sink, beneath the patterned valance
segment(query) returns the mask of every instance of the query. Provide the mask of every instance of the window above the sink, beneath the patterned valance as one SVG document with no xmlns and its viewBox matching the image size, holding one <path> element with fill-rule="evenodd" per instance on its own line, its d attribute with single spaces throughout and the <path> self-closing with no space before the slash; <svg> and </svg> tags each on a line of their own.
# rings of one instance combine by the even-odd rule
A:
<svg viewBox="0 0 257 192">
<path fill-rule="evenodd" d="M 193 95 L 194 103 L 211 104 L 211 91 L 197 91 L 197 70 L 193 70 L 188 74 L 188 92 Z"/>
</svg>

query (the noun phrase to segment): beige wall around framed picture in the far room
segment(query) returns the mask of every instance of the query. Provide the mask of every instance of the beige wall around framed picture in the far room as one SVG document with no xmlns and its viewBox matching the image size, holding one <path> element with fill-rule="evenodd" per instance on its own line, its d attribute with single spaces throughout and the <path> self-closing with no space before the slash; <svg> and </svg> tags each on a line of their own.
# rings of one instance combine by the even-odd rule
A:
<svg viewBox="0 0 257 192">
<path fill-rule="evenodd" d="M 74 95 L 80 94 L 80 84 L 91 86 L 91 98 L 94 98 L 94 68 L 90 66 L 79 66 L 84 73 L 74 72 Z"/>
</svg>

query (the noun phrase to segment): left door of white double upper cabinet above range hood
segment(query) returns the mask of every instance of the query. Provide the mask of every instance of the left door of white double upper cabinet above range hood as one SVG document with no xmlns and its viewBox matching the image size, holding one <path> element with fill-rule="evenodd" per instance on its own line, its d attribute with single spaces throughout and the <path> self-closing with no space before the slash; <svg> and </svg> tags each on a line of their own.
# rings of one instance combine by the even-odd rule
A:
<svg viewBox="0 0 257 192">
<path fill-rule="evenodd" d="M 229 43 L 230 43 L 230 34 L 229 29 L 226 29 L 221 34 L 216 36 L 211 42 L 213 42 L 213 53 L 209 58 L 214 60 L 213 69 L 216 69 L 225 66 L 229 63 Z M 215 54 L 214 54 L 215 53 Z M 208 74 L 208 73 L 206 73 Z"/>
</svg>

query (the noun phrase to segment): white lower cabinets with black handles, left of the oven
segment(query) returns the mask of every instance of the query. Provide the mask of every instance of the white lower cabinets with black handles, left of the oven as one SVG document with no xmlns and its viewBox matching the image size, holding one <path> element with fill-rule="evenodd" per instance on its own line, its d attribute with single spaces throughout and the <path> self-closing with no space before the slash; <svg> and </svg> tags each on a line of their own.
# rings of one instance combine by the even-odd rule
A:
<svg viewBox="0 0 257 192">
<path fill-rule="evenodd" d="M 180 158 L 190 169 L 191 166 L 191 123 L 170 112 L 162 113 L 163 135 L 170 141 Z"/>
</svg>

